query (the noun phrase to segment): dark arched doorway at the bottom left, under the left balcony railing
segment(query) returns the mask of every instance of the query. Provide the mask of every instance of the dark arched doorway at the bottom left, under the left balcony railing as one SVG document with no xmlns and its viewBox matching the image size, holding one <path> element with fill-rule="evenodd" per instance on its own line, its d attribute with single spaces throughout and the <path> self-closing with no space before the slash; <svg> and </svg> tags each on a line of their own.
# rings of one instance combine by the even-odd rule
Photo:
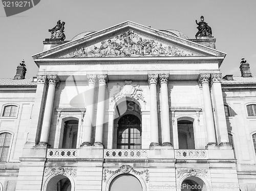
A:
<svg viewBox="0 0 256 191">
<path fill-rule="evenodd" d="M 54 176 L 48 182 L 46 191 L 71 191 L 71 182 L 64 175 Z"/>
</svg>

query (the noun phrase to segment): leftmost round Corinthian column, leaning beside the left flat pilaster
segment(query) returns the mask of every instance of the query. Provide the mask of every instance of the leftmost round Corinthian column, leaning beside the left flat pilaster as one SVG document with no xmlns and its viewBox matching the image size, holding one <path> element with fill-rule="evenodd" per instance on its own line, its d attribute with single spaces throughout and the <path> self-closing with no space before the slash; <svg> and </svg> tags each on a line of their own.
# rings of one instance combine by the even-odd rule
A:
<svg viewBox="0 0 256 191">
<path fill-rule="evenodd" d="M 39 142 L 40 144 L 48 144 L 54 92 L 55 92 L 56 83 L 58 82 L 58 77 L 56 75 L 50 75 L 50 76 L 47 76 L 47 78 L 49 82 L 49 87 L 48 87 L 47 98 L 46 98 L 45 113 L 42 121 L 42 130 L 41 130 L 41 136 L 40 136 L 40 142 Z"/>
</svg>

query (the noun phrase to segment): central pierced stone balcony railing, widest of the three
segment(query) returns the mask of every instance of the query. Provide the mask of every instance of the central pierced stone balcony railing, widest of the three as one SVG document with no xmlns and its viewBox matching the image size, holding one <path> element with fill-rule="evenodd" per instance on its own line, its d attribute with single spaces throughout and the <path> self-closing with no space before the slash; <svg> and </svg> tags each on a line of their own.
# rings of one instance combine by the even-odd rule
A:
<svg viewBox="0 0 256 191">
<path fill-rule="evenodd" d="M 124 150 L 124 149 L 105 149 L 104 158 L 120 158 L 120 159 L 146 159 L 148 158 L 148 150 Z"/>
</svg>

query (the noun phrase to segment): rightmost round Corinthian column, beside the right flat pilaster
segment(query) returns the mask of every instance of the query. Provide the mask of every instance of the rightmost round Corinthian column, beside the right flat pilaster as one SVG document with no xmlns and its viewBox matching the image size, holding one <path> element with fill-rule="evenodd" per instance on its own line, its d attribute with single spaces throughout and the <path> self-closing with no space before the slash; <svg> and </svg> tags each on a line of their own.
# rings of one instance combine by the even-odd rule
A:
<svg viewBox="0 0 256 191">
<path fill-rule="evenodd" d="M 199 83 L 202 85 L 204 99 L 204 114 L 207 129 L 208 145 L 216 145 L 214 117 L 212 114 L 210 89 L 209 89 L 210 74 L 200 74 Z"/>
</svg>

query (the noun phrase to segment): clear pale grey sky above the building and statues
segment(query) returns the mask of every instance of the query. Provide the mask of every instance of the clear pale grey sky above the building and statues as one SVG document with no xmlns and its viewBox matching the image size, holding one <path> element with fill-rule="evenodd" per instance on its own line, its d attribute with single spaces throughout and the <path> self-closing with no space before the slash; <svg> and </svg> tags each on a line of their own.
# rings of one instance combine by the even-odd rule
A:
<svg viewBox="0 0 256 191">
<path fill-rule="evenodd" d="M 57 20 L 65 21 L 66 40 L 84 31 L 102 30 L 126 20 L 154 29 L 174 29 L 195 38 L 203 15 L 217 38 L 217 50 L 227 53 L 222 76 L 240 76 L 240 61 L 245 57 L 252 76 L 256 76 L 256 1 L 255 0 L 41 0 L 34 8 L 6 17 L 0 6 L 1 77 L 13 78 L 16 66 L 25 59 L 27 76 L 38 68 L 32 55 L 42 52 L 42 41 Z"/>
</svg>

